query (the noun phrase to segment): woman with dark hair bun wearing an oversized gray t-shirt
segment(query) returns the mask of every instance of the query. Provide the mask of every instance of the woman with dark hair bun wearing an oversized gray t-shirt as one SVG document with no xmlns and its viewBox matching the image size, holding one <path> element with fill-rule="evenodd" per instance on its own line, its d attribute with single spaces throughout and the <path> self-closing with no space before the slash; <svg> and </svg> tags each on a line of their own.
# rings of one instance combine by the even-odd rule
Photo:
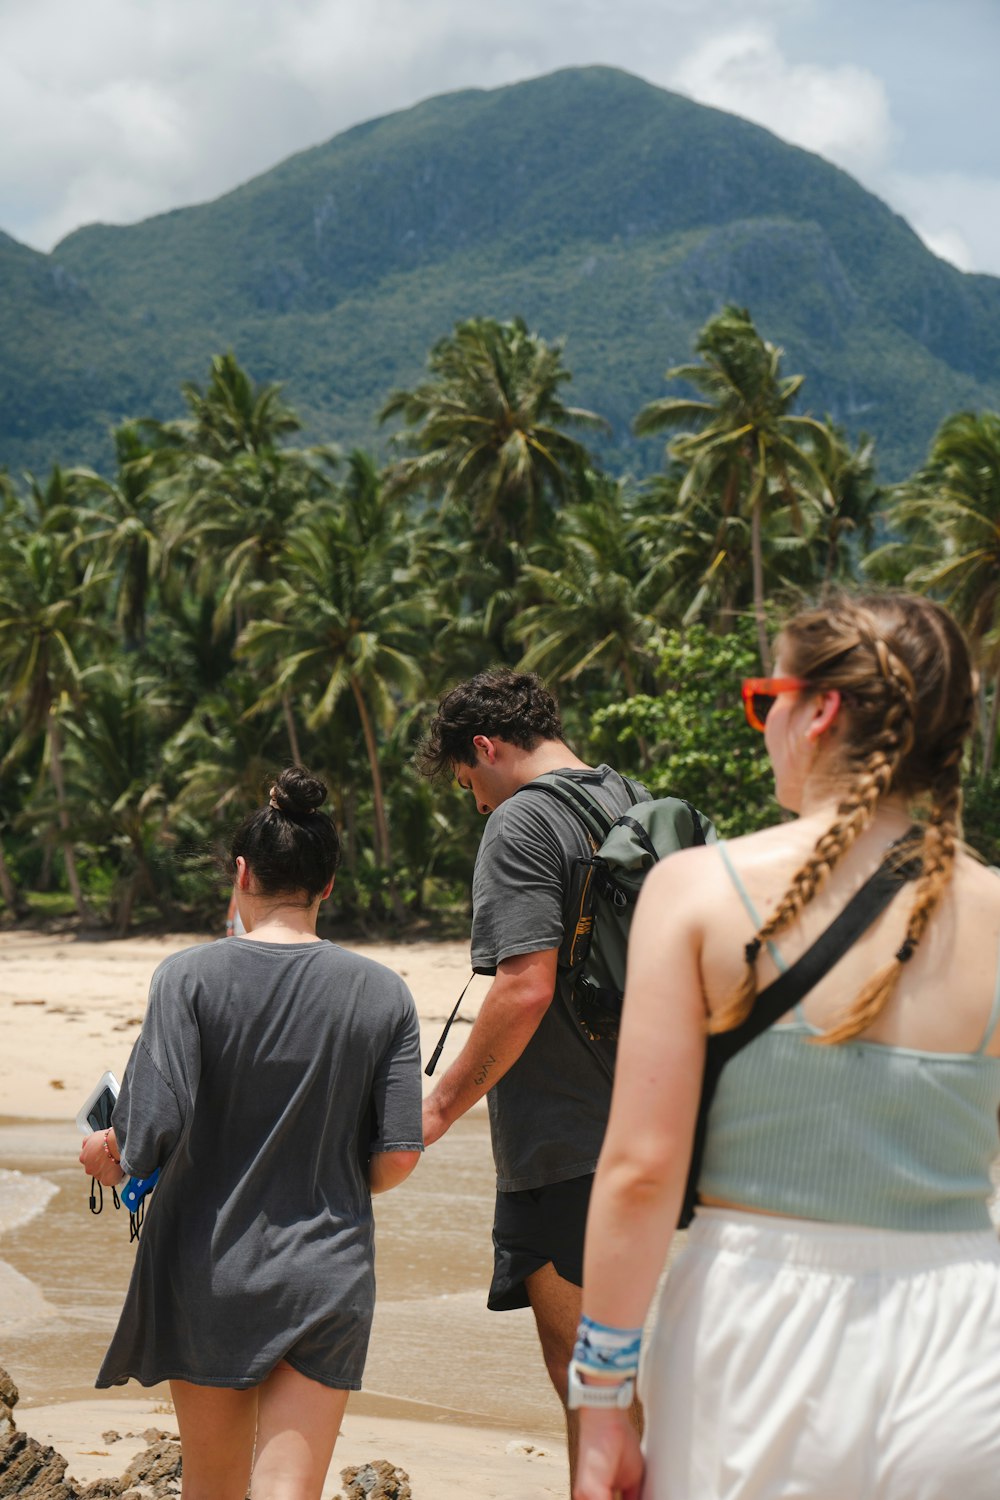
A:
<svg viewBox="0 0 1000 1500">
<path fill-rule="evenodd" d="M 318 1500 L 375 1304 L 372 1192 L 423 1149 L 403 981 L 316 938 L 327 789 L 283 771 L 238 828 L 246 936 L 166 958 L 112 1128 L 81 1161 L 160 1178 L 97 1386 L 169 1380 L 184 1500 Z"/>
</svg>

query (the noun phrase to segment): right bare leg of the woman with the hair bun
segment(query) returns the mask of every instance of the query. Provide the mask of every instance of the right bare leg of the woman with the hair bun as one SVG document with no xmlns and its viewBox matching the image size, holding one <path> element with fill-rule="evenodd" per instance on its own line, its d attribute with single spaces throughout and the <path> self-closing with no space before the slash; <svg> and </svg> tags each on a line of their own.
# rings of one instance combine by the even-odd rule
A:
<svg viewBox="0 0 1000 1500">
<path fill-rule="evenodd" d="M 348 1392 L 321 1386 L 285 1360 L 256 1390 L 252 1500 L 319 1500 Z"/>
</svg>

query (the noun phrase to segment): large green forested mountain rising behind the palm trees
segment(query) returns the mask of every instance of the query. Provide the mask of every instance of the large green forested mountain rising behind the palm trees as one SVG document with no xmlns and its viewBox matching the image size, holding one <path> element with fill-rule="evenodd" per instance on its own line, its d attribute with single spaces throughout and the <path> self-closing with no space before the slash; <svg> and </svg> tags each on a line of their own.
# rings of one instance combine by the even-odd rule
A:
<svg viewBox="0 0 1000 1500">
<path fill-rule="evenodd" d="M 630 434 L 723 302 L 805 372 L 804 406 L 876 435 L 889 477 L 955 408 L 1000 405 L 1000 279 L 937 260 L 853 178 L 606 68 L 430 99 L 210 204 L 91 225 L 51 255 L 0 236 L 0 464 L 111 462 L 108 428 L 175 416 L 232 348 L 307 436 L 375 414 L 457 318 L 565 336 L 570 399 Z"/>
</svg>

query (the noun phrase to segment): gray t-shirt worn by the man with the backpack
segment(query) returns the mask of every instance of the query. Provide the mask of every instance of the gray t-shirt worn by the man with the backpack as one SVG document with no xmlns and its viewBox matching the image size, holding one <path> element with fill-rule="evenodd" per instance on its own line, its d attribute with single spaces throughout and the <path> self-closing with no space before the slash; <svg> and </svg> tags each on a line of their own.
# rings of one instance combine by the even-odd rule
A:
<svg viewBox="0 0 1000 1500">
<path fill-rule="evenodd" d="M 634 801 L 607 765 L 561 774 L 585 784 L 615 818 Z M 529 782 L 490 814 L 475 861 L 477 974 L 495 974 L 504 958 L 561 950 L 552 1005 L 517 1062 L 487 1095 L 501 1192 L 594 1172 L 604 1138 L 615 1054 L 583 1032 L 562 969 L 583 888 L 580 861 L 591 854 L 582 819 Z"/>
</svg>

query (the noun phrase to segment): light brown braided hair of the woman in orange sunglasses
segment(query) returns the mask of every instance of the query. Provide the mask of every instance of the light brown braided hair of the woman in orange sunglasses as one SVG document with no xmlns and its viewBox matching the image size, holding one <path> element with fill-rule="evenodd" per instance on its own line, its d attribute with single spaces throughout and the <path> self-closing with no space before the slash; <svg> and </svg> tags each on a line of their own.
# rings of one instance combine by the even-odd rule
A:
<svg viewBox="0 0 1000 1500">
<path fill-rule="evenodd" d="M 709 1030 L 721 1032 L 738 1026 L 750 1014 L 757 996 L 757 957 L 771 938 L 792 926 L 802 909 L 813 900 L 838 861 L 850 849 L 858 836 L 871 822 L 876 808 L 891 790 L 927 789 L 933 794 L 933 812 L 921 850 L 924 870 L 918 884 L 916 898 L 907 934 L 894 962 L 886 964 L 865 986 L 852 1004 L 843 1022 L 823 1040 L 846 1041 L 871 1024 L 889 999 L 900 970 L 919 944 L 927 922 L 948 885 L 958 840 L 958 818 L 961 807 L 960 772 L 963 742 L 972 728 L 973 696 L 969 688 L 963 694 L 963 711 L 955 716 L 951 732 L 942 735 L 934 756 L 931 776 L 913 780 L 909 762 L 913 759 L 921 674 L 910 669 L 898 648 L 886 636 L 891 630 L 880 616 L 898 615 L 909 602 L 904 597 L 886 600 L 835 600 L 831 608 L 801 616 L 786 627 L 784 638 L 795 648 L 802 646 L 807 660 L 793 664 L 810 682 L 820 687 L 840 687 L 849 700 L 855 720 L 853 744 L 849 744 L 849 766 L 855 776 L 843 796 L 837 818 L 820 836 L 807 862 L 796 872 L 792 882 L 766 922 L 760 926 L 753 940 L 745 946 L 745 972 L 726 1004 L 712 1016 Z M 930 618 L 924 621 L 934 638 L 930 650 L 945 651 L 954 657 L 954 639 L 961 644 L 969 681 L 969 663 L 964 642 L 954 622 L 949 630 L 942 624 L 943 610 L 921 600 L 918 612 Z M 948 616 L 945 616 L 948 620 Z M 910 774 L 907 774 L 910 772 Z"/>
</svg>

